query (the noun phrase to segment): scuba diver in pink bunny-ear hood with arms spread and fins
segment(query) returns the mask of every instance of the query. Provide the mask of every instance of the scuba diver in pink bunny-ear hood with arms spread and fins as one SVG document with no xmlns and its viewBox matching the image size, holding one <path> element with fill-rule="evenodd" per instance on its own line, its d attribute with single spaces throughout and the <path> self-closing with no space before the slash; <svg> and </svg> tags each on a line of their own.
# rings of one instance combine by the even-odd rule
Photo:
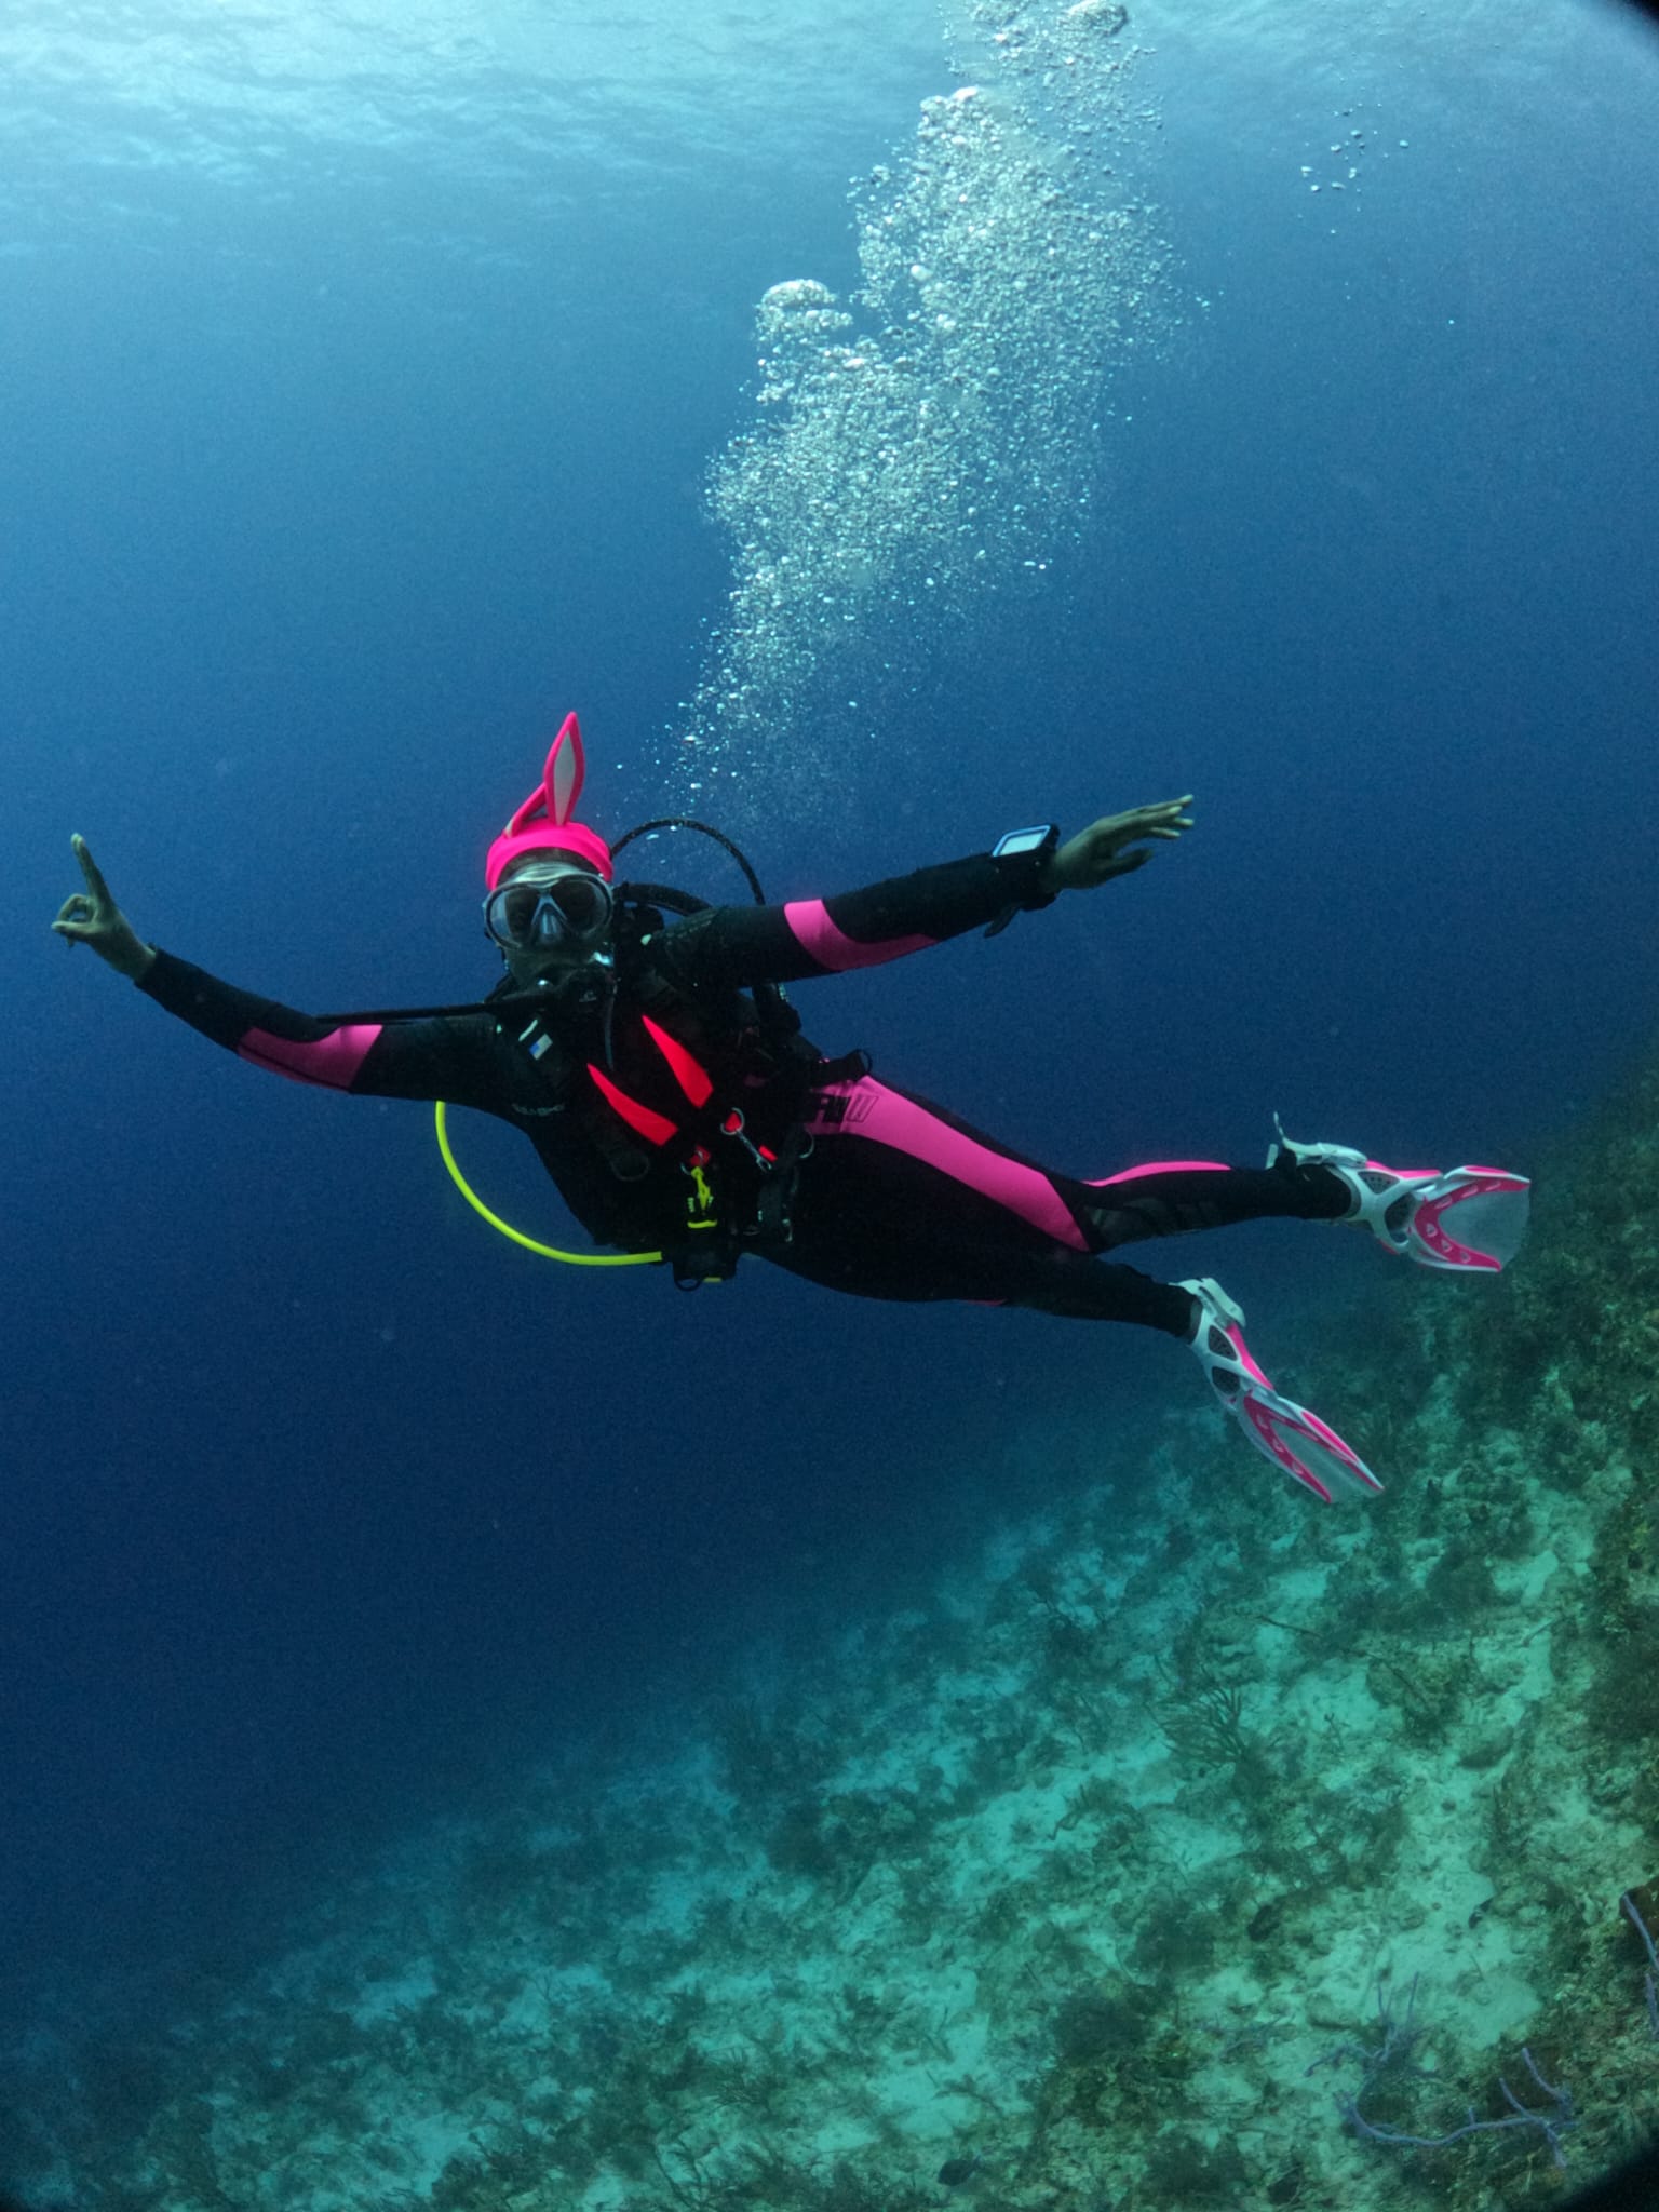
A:
<svg viewBox="0 0 1659 2212">
<path fill-rule="evenodd" d="M 507 973 L 469 1006 L 303 1015 L 146 945 L 86 843 L 86 889 L 53 929 L 88 945 L 215 1044 L 292 1082 L 445 1104 L 522 1128 L 582 1228 L 613 1254 L 664 1261 L 681 1287 L 748 1252 L 863 1298 L 962 1298 L 1077 1321 L 1128 1321 L 1190 1345 L 1245 1438 L 1329 1502 L 1383 1484 L 1316 1413 L 1281 1396 L 1208 1276 L 1159 1283 L 1104 1254 L 1150 1237 L 1290 1217 L 1349 1221 L 1425 1267 L 1489 1274 L 1526 1225 L 1528 1183 L 1502 1168 L 1387 1168 L 1279 1130 L 1265 1168 L 1164 1159 L 1079 1179 L 880 1082 L 865 1053 L 825 1057 L 783 984 L 876 967 L 969 929 L 1002 931 L 1141 867 L 1192 827 L 1188 799 L 1108 814 L 1060 843 L 1053 823 L 989 854 L 834 898 L 765 905 L 754 872 L 701 823 L 641 823 L 615 847 L 575 818 L 575 714 L 542 781 L 484 860 L 484 931 Z M 712 907 L 617 883 L 615 852 L 664 827 L 706 830 L 745 869 L 754 905 Z"/>
</svg>

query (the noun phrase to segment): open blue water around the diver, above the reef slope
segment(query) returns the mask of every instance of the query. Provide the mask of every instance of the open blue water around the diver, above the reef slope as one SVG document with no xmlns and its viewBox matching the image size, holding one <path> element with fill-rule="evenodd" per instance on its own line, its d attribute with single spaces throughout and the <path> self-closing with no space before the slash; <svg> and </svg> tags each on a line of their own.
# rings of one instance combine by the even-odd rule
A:
<svg viewBox="0 0 1659 2212">
<path fill-rule="evenodd" d="M 854 285 L 847 188 L 956 80 L 920 0 L 608 13 L 0 31 L 11 2017 L 230 1944 L 774 1617 L 902 1593 L 1033 1502 L 1053 1407 L 1115 1436 L 1194 1389 L 1150 1338 L 759 1265 L 555 1274 L 465 1217 L 420 1108 L 265 1082 L 46 933 L 80 830 L 234 982 L 462 998 L 566 708 L 588 816 L 661 803 L 754 303 Z M 936 653 L 905 624 L 889 692 L 880 615 L 845 743 L 812 701 L 710 812 L 779 896 L 1186 790 L 1199 827 L 823 984 L 825 1046 L 1108 1172 L 1256 1159 L 1274 1108 L 1524 1166 L 1650 1037 L 1659 51 L 1504 20 L 1137 15 L 1170 263 L 1086 520 Z M 1283 1316 L 1336 1270 L 1287 1230 L 1199 1256 Z"/>
</svg>

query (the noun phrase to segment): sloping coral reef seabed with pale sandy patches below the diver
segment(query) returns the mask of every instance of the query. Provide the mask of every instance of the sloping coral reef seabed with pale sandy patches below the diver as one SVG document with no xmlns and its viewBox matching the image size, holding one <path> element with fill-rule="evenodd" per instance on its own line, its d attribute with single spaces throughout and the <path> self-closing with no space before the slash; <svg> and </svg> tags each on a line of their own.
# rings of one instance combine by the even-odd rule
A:
<svg viewBox="0 0 1659 2212">
<path fill-rule="evenodd" d="M 119 2093 L 64 2062 L 42 2201 L 1484 2212 L 1608 2163 L 1659 2124 L 1659 1068 L 1513 1276 L 1374 1281 L 1329 1325 L 1385 1498 L 1188 1413 L 1102 1444 L 931 1608 L 365 1867 Z"/>
</svg>

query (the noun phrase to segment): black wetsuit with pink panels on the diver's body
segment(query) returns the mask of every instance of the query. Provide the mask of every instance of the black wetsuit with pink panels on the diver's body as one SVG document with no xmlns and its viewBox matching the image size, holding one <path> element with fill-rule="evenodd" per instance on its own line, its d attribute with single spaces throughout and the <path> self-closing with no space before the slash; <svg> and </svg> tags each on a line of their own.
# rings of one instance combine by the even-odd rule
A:
<svg viewBox="0 0 1659 2212">
<path fill-rule="evenodd" d="M 752 1192 L 765 1186 L 770 1161 L 790 1179 L 787 1232 L 765 1228 L 759 1210 L 743 1250 L 816 1283 L 867 1298 L 1029 1305 L 1186 1336 L 1186 1290 L 1106 1265 L 1102 1254 L 1270 1214 L 1336 1219 L 1349 1203 L 1338 1177 L 1285 1161 L 1259 1170 L 1161 1161 L 1102 1181 L 1062 1175 L 874 1075 L 821 1068 L 814 1077 L 799 1060 L 781 1062 L 743 998 L 754 984 L 896 960 L 1009 907 L 1042 905 L 1035 856 L 980 854 L 830 900 L 710 907 L 624 940 L 615 1004 L 577 980 L 529 1029 L 522 1002 L 502 1018 L 484 1009 L 338 1026 L 168 953 L 157 953 L 139 989 L 294 1082 L 358 1097 L 442 1097 L 515 1124 L 571 1212 L 606 1245 L 670 1248 L 690 1161 L 712 1155 L 719 1166 L 723 1152 L 739 1170 L 752 1168 Z"/>
</svg>

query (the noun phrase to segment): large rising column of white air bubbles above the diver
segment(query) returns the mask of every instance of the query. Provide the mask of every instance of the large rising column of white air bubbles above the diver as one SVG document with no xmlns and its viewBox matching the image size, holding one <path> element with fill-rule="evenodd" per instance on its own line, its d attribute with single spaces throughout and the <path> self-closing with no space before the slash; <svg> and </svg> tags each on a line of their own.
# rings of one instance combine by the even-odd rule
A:
<svg viewBox="0 0 1659 2212">
<path fill-rule="evenodd" d="M 1172 319 L 1121 181 L 1155 122 L 1124 9 L 1040 0 L 1018 38 L 1004 0 L 967 18 L 958 88 L 854 190 L 856 290 L 763 294 L 754 425 L 710 471 L 734 584 L 672 754 L 759 805 L 827 794 L 845 730 L 836 761 L 812 748 L 849 692 L 880 723 L 987 597 L 1037 588 L 1088 511 L 1106 383 Z"/>
</svg>

